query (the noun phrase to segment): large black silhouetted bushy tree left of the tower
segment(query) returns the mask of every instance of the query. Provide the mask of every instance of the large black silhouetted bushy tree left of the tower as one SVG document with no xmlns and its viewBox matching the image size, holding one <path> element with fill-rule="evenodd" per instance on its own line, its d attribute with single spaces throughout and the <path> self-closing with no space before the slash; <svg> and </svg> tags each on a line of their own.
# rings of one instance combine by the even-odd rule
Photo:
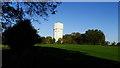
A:
<svg viewBox="0 0 120 68">
<path fill-rule="evenodd" d="M 13 50 L 32 47 L 40 38 L 30 20 L 19 21 L 6 29 L 2 35 L 3 44 L 9 45 Z"/>
</svg>

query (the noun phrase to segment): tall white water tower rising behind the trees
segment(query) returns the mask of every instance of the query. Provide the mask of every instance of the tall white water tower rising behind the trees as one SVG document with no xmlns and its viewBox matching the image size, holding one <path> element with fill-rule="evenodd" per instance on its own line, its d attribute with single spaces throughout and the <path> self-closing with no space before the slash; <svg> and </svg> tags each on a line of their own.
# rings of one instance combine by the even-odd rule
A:
<svg viewBox="0 0 120 68">
<path fill-rule="evenodd" d="M 54 39 L 55 42 L 58 41 L 59 38 L 63 37 L 63 24 L 60 22 L 54 23 Z"/>
</svg>

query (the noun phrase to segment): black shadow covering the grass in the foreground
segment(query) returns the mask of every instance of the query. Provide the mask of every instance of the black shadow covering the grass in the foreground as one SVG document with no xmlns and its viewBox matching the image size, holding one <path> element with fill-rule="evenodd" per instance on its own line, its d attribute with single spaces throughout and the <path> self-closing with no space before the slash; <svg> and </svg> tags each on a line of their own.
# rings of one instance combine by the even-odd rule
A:
<svg viewBox="0 0 120 68">
<path fill-rule="evenodd" d="M 52 47 L 33 47 L 21 51 L 3 50 L 2 68 L 40 68 L 41 66 L 77 66 L 119 68 L 118 62 Z"/>
</svg>

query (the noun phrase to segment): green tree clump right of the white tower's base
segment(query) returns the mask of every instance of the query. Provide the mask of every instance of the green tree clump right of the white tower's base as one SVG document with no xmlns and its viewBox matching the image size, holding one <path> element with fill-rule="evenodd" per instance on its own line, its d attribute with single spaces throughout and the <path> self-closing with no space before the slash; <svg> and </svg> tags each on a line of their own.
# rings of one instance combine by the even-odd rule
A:
<svg viewBox="0 0 120 68">
<path fill-rule="evenodd" d="M 105 35 L 101 30 L 88 30 L 85 34 L 74 32 L 63 36 L 64 44 L 104 45 Z"/>
</svg>

